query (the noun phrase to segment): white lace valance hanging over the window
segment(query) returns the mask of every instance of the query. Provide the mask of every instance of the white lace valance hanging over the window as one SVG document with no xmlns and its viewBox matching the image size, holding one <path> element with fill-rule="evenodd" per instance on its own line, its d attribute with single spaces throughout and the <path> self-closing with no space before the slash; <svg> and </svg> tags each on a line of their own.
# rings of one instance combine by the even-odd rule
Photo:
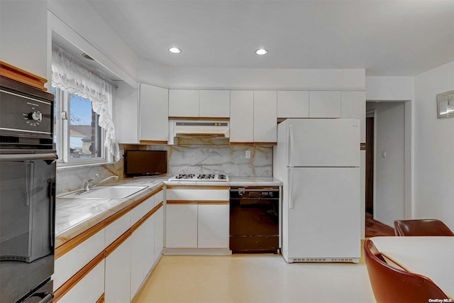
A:
<svg viewBox="0 0 454 303">
<path fill-rule="evenodd" d="M 99 126 L 106 131 L 104 146 L 119 160 L 120 148 L 116 142 L 112 120 L 114 84 L 66 50 L 52 44 L 52 87 L 92 101 L 93 111 L 99 114 Z"/>
</svg>

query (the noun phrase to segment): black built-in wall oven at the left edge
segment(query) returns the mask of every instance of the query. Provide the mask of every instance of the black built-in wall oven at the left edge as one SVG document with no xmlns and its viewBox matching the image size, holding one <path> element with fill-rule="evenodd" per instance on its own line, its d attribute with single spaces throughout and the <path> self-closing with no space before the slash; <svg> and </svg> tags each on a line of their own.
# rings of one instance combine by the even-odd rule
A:
<svg viewBox="0 0 454 303">
<path fill-rule="evenodd" d="M 0 302 L 52 302 L 53 95 L 0 77 Z"/>
</svg>

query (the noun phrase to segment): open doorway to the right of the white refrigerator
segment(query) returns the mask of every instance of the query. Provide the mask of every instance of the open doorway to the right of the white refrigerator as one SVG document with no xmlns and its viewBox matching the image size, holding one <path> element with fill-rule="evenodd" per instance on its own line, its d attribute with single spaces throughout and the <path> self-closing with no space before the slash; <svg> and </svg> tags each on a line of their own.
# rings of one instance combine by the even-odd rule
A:
<svg viewBox="0 0 454 303">
<path fill-rule="evenodd" d="M 411 101 L 366 102 L 365 216 L 411 218 Z"/>
</svg>

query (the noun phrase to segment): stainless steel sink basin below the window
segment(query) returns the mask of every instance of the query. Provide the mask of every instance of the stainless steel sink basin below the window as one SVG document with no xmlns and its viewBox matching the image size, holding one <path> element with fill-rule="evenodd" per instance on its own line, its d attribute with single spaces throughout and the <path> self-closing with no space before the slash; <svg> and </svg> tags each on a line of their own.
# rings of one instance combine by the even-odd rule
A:
<svg viewBox="0 0 454 303">
<path fill-rule="evenodd" d="M 147 188 L 147 185 L 140 186 L 100 186 L 90 189 L 88 192 L 79 190 L 79 192 L 72 192 L 65 194 L 59 198 L 63 199 L 123 199 L 140 192 Z"/>
</svg>

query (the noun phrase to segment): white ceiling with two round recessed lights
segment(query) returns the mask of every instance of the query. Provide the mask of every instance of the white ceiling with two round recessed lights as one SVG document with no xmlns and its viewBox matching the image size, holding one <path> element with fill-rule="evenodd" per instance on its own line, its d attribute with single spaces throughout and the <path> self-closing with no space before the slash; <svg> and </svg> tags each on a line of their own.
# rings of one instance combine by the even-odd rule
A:
<svg viewBox="0 0 454 303">
<path fill-rule="evenodd" d="M 414 76 L 454 60 L 453 0 L 88 1 L 138 57 L 173 67 Z"/>
</svg>

